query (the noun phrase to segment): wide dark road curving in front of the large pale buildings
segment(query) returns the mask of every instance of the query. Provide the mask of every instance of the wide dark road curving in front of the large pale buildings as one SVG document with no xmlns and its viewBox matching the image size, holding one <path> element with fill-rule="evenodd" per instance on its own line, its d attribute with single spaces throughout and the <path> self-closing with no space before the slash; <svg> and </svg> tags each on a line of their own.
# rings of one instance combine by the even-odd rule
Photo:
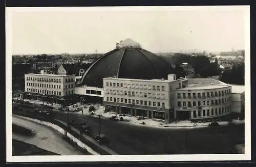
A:
<svg viewBox="0 0 256 167">
<path fill-rule="evenodd" d="M 55 112 L 56 119 L 67 121 L 67 113 Z M 98 118 L 69 114 L 74 121 L 85 120 L 98 134 Z M 101 119 L 101 132 L 110 138 L 110 148 L 118 154 L 230 154 L 244 137 L 244 125 L 195 129 L 160 129 Z M 241 136 L 238 140 L 238 136 Z"/>
</svg>

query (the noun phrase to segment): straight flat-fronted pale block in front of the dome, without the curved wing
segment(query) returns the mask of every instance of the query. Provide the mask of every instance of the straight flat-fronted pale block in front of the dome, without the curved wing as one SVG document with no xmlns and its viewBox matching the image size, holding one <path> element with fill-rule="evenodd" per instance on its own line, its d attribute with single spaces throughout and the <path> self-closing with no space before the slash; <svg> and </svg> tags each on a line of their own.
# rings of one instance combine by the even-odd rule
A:
<svg viewBox="0 0 256 167">
<path fill-rule="evenodd" d="M 103 78 L 103 104 L 116 113 L 140 116 L 169 122 L 174 116 L 173 95 L 186 79 L 126 79 Z"/>
</svg>

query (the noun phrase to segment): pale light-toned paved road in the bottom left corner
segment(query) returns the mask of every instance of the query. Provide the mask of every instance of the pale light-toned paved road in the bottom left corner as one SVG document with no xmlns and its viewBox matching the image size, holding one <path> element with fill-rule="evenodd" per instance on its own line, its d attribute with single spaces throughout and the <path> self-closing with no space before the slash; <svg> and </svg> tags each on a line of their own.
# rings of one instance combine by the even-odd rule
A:
<svg viewBox="0 0 256 167">
<path fill-rule="evenodd" d="M 57 131 L 15 116 L 12 117 L 12 122 L 29 127 L 36 132 L 36 135 L 33 137 L 12 133 L 12 138 L 16 140 L 33 144 L 39 148 L 61 155 L 83 155 L 82 152 L 76 150 L 73 146 L 63 140 L 61 134 Z"/>
</svg>

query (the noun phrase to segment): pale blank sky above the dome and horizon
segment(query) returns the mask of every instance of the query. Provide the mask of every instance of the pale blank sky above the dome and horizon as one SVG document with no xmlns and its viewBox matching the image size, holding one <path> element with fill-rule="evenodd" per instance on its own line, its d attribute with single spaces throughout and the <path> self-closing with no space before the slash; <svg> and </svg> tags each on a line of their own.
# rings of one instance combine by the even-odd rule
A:
<svg viewBox="0 0 256 167">
<path fill-rule="evenodd" d="M 244 8 L 70 9 L 11 12 L 12 54 L 104 53 L 126 38 L 152 52 L 245 47 Z"/>
</svg>

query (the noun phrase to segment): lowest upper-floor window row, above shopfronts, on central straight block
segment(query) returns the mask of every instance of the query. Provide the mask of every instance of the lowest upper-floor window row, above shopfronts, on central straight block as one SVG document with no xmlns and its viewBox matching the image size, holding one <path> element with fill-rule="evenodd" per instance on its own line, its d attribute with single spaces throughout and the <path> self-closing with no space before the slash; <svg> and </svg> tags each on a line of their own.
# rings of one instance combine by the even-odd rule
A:
<svg viewBox="0 0 256 167">
<path fill-rule="evenodd" d="M 106 97 L 106 101 L 165 108 L 164 103 L 162 103 L 162 105 L 160 106 L 160 102 L 156 102 L 156 101 L 152 102 L 152 101 L 146 101 L 146 100 L 143 101 L 143 100 L 135 100 L 135 99 L 116 98 L 116 97 Z"/>
</svg>

